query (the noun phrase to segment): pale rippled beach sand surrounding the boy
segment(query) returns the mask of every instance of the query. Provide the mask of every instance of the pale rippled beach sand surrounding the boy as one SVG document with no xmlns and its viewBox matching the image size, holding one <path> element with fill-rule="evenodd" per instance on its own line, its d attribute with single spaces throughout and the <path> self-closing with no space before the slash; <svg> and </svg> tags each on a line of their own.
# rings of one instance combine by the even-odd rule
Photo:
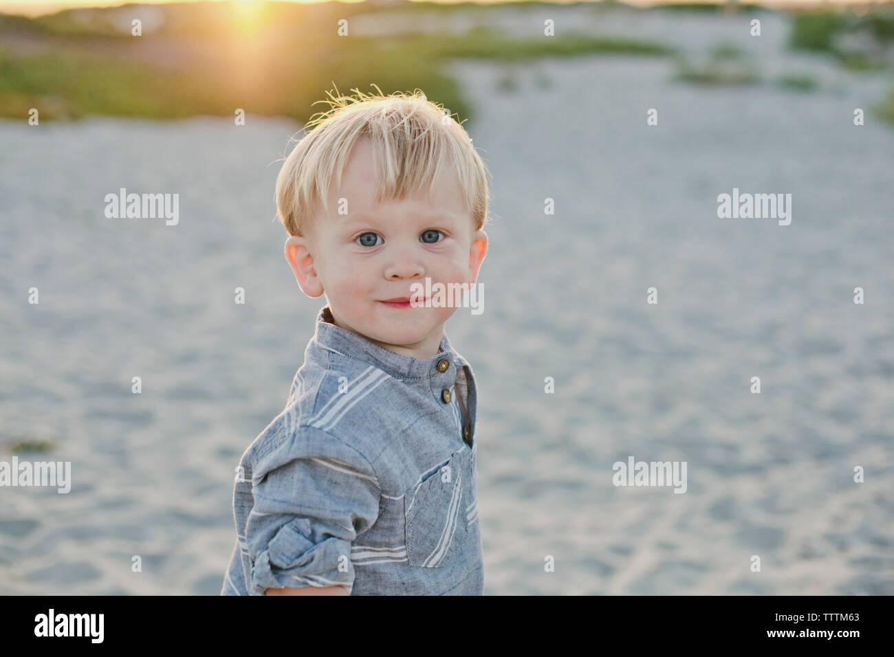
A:
<svg viewBox="0 0 894 657">
<path fill-rule="evenodd" d="M 802 95 L 667 60 L 455 64 L 497 215 L 485 312 L 447 324 L 485 594 L 894 594 L 894 130 L 851 122 L 877 78 L 809 65 Z M 233 468 L 323 305 L 274 219 L 296 130 L 0 122 L 0 459 L 36 436 L 20 459 L 72 463 L 71 493 L 0 489 L 0 594 L 219 593 Z M 122 187 L 179 193 L 180 222 L 106 219 Z M 791 224 L 719 219 L 733 188 L 791 193 Z M 631 456 L 686 461 L 687 492 L 614 486 Z"/>
</svg>

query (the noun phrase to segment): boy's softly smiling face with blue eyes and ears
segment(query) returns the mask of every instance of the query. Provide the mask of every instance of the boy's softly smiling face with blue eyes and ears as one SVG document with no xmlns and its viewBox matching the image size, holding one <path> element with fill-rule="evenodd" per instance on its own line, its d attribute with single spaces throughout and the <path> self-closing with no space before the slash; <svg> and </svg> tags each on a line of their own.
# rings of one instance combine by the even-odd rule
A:
<svg viewBox="0 0 894 657">
<path fill-rule="evenodd" d="M 433 288 L 476 282 L 487 235 L 474 232 L 451 166 L 439 173 L 431 197 L 376 205 L 376 182 L 372 148 L 361 139 L 341 190 L 335 181 L 329 190 L 330 215 L 321 207 L 306 237 L 286 240 L 286 259 L 308 297 L 325 292 L 335 325 L 395 353 L 431 358 L 456 308 L 394 307 L 383 301 L 409 298 L 410 286 L 425 285 L 426 278 Z M 341 204 L 347 204 L 346 215 L 338 214 L 340 198 L 346 199 Z"/>
</svg>

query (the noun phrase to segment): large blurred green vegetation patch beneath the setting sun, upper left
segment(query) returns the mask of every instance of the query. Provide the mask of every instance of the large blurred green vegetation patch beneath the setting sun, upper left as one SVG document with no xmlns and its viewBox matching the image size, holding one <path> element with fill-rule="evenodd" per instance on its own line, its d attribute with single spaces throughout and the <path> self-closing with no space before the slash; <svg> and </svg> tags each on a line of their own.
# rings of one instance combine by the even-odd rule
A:
<svg viewBox="0 0 894 657">
<path fill-rule="evenodd" d="M 493 7 L 472 4 L 473 11 Z M 399 4 L 406 13 L 455 11 Z M 340 37 L 338 21 L 363 4 L 239 3 L 126 5 L 29 19 L 0 14 L 0 115 L 41 119 L 90 114 L 175 119 L 195 114 L 287 115 L 306 122 L 327 109 L 325 91 L 385 93 L 422 88 L 460 121 L 473 107 L 446 70 L 453 58 L 518 62 L 544 56 L 666 55 L 665 46 L 583 34 L 510 38 L 479 27 L 461 34 L 408 32 Z M 390 9 L 377 9 L 386 13 Z M 152 16 L 163 16 L 151 29 Z M 143 36 L 131 36 L 131 18 Z M 436 23 L 433 23 L 436 25 Z"/>
</svg>

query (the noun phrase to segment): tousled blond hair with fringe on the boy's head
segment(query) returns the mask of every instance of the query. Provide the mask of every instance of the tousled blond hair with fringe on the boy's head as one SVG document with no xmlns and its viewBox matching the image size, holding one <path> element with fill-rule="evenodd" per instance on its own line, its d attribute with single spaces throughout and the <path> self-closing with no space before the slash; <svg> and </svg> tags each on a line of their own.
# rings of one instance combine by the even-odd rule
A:
<svg viewBox="0 0 894 657">
<path fill-rule="evenodd" d="M 331 100 L 317 101 L 331 106 L 310 118 L 305 126 L 310 132 L 285 158 L 276 178 L 276 214 L 286 231 L 304 237 L 317 203 L 329 214 L 330 181 L 337 176 L 341 185 L 348 156 L 359 139 L 370 140 L 378 163 L 376 202 L 407 198 L 426 184 L 431 191 L 443 162 L 452 162 L 475 230 L 481 230 L 489 221 L 490 172 L 468 132 L 420 89 L 412 95 L 397 92 L 391 96 L 376 89 L 379 93 L 375 96 L 352 89 L 356 98 L 333 97 L 326 92 Z"/>
</svg>

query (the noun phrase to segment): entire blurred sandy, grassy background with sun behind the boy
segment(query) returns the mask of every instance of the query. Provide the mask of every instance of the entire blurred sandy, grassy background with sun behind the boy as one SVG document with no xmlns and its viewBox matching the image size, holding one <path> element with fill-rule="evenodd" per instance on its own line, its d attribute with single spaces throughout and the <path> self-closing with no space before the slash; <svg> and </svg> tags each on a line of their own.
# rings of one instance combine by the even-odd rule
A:
<svg viewBox="0 0 894 657">
<path fill-rule="evenodd" d="M 0 488 L 0 594 L 220 592 L 234 468 L 325 303 L 279 160 L 372 84 L 493 174 L 485 312 L 447 324 L 485 594 L 894 594 L 892 9 L 0 2 L 0 460 L 72 463 Z M 106 218 L 121 188 L 179 223 Z M 718 218 L 734 188 L 791 223 Z M 687 493 L 612 485 L 631 456 Z"/>
</svg>

